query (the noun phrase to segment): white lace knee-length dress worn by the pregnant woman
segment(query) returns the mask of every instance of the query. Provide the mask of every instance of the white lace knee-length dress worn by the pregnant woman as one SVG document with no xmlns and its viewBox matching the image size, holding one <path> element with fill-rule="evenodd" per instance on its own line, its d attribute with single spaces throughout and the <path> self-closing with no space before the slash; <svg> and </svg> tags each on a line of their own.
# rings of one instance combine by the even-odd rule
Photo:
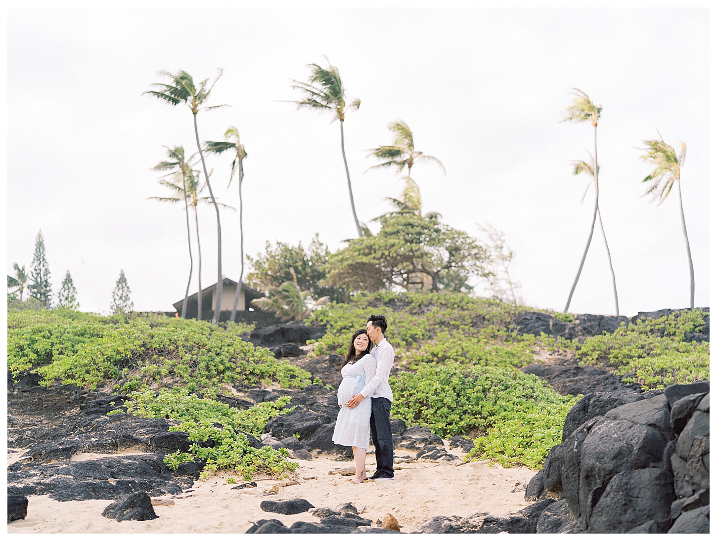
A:
<svg viewBox="0 0 717 541">
<path fill-rule="evenodd" d="M 341 410 L 333 429 L 333 443 L 369 449 L 369 422 L 371 421 L 371 398 L 366 397 L 356 408 L 349 409 L 346 402 L 366 386 L 376 375 L 376 359 L 364 355 L 358 362 L 341 368 L 343 381 L 338 387 L 338 403 Z"/>
</svg>

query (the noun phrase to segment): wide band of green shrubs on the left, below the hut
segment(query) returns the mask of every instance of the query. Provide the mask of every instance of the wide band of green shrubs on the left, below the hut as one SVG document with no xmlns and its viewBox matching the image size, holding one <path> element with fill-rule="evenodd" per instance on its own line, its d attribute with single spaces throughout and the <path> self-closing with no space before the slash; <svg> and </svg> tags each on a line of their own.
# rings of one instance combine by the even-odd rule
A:
<svg viewBox="0 0 717 541">
<path fill-rule="evenodd" d="M 309 373 L 240 339 L 250 325 L 151 317 L 99 317 L 70 310 L 8 317 L 8 369 L 32 369 L 55 381 L 95 389 L 106 380 L 121 392 L 186 386 L 214 393 L 224 383 L 277 382 L 303 388 Z"/>
</svg>

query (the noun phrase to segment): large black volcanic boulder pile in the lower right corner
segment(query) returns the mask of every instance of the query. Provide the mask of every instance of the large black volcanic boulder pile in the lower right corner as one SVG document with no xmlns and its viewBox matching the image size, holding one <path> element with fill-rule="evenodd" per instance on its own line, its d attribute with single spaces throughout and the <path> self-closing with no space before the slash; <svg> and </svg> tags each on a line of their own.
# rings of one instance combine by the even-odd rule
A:
<svg viewBox="0 0 717 541">
<path fill-rule="evenodd" d="M 554 500 L 538 533 L 709 531 L 709 383 L 658 392 L 573 406 L 526 489 L 528 501 Z"/>
</svg>

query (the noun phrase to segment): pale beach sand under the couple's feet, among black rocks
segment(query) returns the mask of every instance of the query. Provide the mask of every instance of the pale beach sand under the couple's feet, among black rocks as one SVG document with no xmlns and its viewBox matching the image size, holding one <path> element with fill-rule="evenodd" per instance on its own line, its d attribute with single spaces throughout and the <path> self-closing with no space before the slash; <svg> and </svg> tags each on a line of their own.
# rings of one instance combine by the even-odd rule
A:
<svg viewBox="0 0 717 541">
<path fill-rule="evenodd" d="M 454 454 L 462 453 L 455 450 Z M 410 454 L 399 449 L 399 456 Z M 87 459 L 89 456 L 75 457 Z M 92 458 L 99 458 L 98 455 Z M 263 512 L 259 505 L 265 499 L 304 498 L 315 507 L 336 507 L 352 502 L 362 517 L 382 519 L 391 513 L 409 532 L 429 517 L 458 515 L 466 517 L 479 511 L 492 514 L 517 511 L 527 504 L 525 492 L 511 493 L 516 484 L 527 483 L 535 471 L 489 464 L 454 464 L 412 462 L 396 464 L 396 479 L 389 482 L 352 484 L 351 477 L 329 475 L 336 468 L 351 466 L 325 457 L 313 461 L 299 460 L 295 479 L 300 483 L 280 487 L 278 494 L 265 495 L 277 482 L 259 481 L 256 489 L 232 490 L 228 475 L 194 483 L 191 497 L 172 499 L 174 506 L 155 505 L 159 518 L 144 522 L 116 522 L 102 516 L 110 500 L 90 499 L 83 502 L 56 502 L 49 496 L 30 496 L 27 518 L 11 522 L 8 533 L 243 533 L 260 519 L 278 519 L 290 526 L 294 522 L 318 522 L 311 512 L 284 515 Z M 373 455 L 367 457 L 369 474 L 375 469 Z M 315 479 L 303 479 L 315 477 Z M 169 499 L 165 496 L 162 499 Z"/>
</svg>

